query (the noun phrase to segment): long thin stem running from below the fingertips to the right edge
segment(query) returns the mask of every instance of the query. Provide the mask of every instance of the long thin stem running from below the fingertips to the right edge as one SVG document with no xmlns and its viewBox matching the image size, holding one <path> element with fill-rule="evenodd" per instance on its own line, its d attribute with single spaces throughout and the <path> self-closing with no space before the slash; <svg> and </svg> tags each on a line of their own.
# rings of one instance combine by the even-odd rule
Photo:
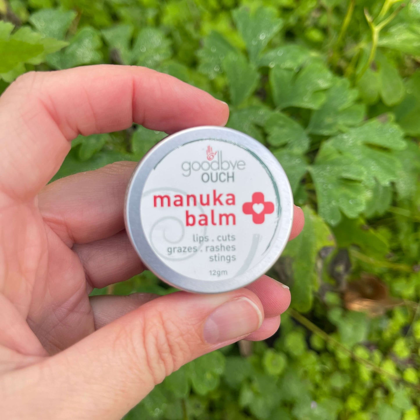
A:
<svg viewBox="0 0 420 420">
<path fill-rule="evenodd" d="M 296 310 L 289 308 L 290 315 L 297 320 L 300 324 L 302 324 L 305 328 L 307 328 L 309 331 L 312 331 L 312 333 L 317 334 L 320 336 L 324 341 L 327 343 L 332 344 L 335 347 L 338 347 L 340 350 L 342 350 L 344 353 L 348 354 L 352 359 L 362 365 L 365 365 L 366 367 L 369 367 L 371 370 L 373 370 L 376 373 L 379 373 L 381 375 L 386 375 L 389 378 L 393 379 L 394 381 L 403 382 L 405 385 L 411 386 L 416 389 L 420 389 L 419 385 L 415 385 L 414 383 L 410 383 L 407 381 L 404 381 L 403 378 L 393 375 L 392 373 L 388 373 L 386 370 L 381 369 L 381 367 L 376 366 L 370 360 L 363 359 L 362 357 L 357 356 L 349 350 L 346 346 L 341 344 L 336 339 L 333 339 L 333 337 L 329 336 L 325 331 L 321 330 L 318 326 L 316 326 L 314 323 L 312 323 L 309 319 L 304 317 L 302 314 L 297 312 Z"/>
</svg>

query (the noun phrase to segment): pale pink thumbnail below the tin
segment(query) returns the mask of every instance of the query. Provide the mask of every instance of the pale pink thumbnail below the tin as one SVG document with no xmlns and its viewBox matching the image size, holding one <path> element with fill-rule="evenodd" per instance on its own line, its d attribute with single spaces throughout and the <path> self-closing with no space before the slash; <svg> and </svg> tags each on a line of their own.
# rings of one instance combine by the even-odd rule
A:
<svg viewBox="0 0 420 420">
<path fill-rule="evenodd" d="M 260 308 L 247 297 L 220 305 L 204 324 L 204 339 L 209 344 L 223 343 L 245 336 L 260 328 Z"/>
</svg>

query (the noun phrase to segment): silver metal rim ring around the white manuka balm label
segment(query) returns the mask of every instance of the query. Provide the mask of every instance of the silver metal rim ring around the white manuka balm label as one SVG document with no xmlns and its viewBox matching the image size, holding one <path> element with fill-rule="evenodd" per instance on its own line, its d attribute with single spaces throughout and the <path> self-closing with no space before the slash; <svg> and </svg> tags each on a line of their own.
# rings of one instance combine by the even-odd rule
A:
<svg viewBox="0 0 420 420">
<path fill-rule="evenodd" d="M 197 280 L 178 273 L 168 267 L 155 254 L 146 239 L 140 221 L 140 201 L 144 185 L 149 173 L 169 152 L 182 146 L 184 143 L 199 139 L 224 139 L 246 147 L 255 152 L 270 168 L 278 186 L 281 203 L 281 215 L 276 238 L 269 251 L 262 260 L 245 273 L 225 280 Z M 134 170 L 126 190 L 124 208 L 126 231 L 131 244 L 139 255 L 144 265 L 157 277 L 179 289 L 195 293 L 221 293 L 247 286 L 266 273 L 280 257 L 290 236 L 293 222 L 293 196 L 289 180 L 274 155 L 260 142 L 241 133 L 240 131 L 217 126 L 200 126 L 171 134 L 157 143 L 144 155 Z"/>
</svg>

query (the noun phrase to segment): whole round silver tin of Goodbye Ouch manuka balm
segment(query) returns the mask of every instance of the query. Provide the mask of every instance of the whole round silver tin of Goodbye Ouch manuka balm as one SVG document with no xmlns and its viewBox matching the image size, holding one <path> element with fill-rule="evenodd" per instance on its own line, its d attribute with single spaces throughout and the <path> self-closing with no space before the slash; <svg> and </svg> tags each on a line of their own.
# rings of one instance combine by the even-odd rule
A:
<svg viewBox="0 0 420 420">
<path fill-rule="evenodd" d="M 278 160 L 224 127 L 172 134 L 141 160 L 126 193 L 126 230 L 163 281 L 198 293 L 246 286 L 289 238 L 293 198 Z"/>
</svg>

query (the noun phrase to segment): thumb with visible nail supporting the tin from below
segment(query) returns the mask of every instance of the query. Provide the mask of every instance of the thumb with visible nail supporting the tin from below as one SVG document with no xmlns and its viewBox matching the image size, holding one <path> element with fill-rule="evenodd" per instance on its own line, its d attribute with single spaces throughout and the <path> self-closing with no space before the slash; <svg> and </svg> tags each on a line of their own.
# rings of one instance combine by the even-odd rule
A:
<svg viewBox="0 0 420 420">
<path fill-rule="evenodd" d="M 39 364 L 27 406 L 44 416 L 49 407 L 47 417 L 55 419 L 66 407 L 72 418 L 119 419 L 165 376 L 257 330 L 262 320 L 262 304 L 247 289 L 159 297 Z"/>
</svg>

